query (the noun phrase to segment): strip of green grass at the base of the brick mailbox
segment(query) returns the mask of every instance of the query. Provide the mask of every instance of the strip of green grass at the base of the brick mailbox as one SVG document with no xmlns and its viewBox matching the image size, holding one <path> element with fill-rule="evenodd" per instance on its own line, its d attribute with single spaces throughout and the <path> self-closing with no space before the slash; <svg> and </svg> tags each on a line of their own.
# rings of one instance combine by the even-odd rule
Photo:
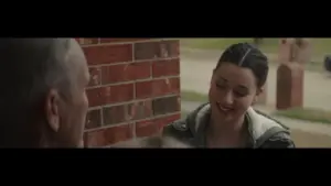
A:
<svg viewBox="0 0 331 186">
<path fill-rule="evenodd" d="M 293 108 L 288 110 L 275 111 L 273 114 L 287 117 L 292 119 L 306 120 L 311 122 L 321 122 L 331 124 L 331 111 L 310 109 L 310 108 Z"/>
</svg>

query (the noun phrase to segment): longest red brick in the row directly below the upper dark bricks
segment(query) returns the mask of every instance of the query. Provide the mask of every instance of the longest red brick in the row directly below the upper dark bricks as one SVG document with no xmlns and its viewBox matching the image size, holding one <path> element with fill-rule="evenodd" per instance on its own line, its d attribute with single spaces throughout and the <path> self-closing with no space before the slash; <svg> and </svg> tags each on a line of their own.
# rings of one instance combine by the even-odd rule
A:
<svg viewBox="0 0 331 186">
<path fill-rule="evenodd" d="M 149 78 L 151 76 L 150 66 L 150 62 L 104 66 L 103 84 Z"/>
</svg>

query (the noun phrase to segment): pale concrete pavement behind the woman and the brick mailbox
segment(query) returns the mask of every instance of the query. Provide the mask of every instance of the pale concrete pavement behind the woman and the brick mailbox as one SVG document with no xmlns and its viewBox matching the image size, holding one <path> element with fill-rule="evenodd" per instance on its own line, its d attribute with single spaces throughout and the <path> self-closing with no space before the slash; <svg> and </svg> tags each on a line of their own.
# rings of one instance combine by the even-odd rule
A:
<svg viewBox="0 0 331 186">
<path fill-rule="evenodd" d="M 182 52 L 181 55 L 181 88 L 196 92 L 207 94 L 212 70 L 221 55 L 218 53 L 197 51 Z M 274 106 L 276 102 L 276 70 L 270 67 L 267 80 L 267 103 Z M 309 108 L 331 110 L 331 78 L 330 75 L 305 72 L 303 105 Z"/>
</svg>

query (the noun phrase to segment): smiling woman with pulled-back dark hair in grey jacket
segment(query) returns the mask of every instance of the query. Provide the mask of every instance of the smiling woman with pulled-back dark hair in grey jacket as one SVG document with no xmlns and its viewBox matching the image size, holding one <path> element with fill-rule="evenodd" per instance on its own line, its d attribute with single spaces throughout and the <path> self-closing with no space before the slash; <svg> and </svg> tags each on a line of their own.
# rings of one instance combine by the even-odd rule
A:
<svg viewBox="0 0 331 186">
<path fill-rule="evenodd" d="M 166 127 L 163 136 L 194 147 L 295 147 L 288 128 L 252 108 L 267 76 L 268 61 L 258 48 L 229 46 L 213 70 L 210 101 Z"/>
</svg>

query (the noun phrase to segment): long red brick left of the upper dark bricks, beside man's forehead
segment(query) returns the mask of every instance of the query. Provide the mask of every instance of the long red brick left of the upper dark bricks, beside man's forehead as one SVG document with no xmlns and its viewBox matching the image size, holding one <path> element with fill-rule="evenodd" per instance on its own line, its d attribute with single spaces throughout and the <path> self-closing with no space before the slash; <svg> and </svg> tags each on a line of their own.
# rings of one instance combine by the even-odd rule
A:
<svg viewBox="0 0 331 186">
<path fill-rule="evenodd" d="M 89 65 L 111 64 L 132 61 L 132 45 L 95 45 L 83 47 Z"/>
</svg>

